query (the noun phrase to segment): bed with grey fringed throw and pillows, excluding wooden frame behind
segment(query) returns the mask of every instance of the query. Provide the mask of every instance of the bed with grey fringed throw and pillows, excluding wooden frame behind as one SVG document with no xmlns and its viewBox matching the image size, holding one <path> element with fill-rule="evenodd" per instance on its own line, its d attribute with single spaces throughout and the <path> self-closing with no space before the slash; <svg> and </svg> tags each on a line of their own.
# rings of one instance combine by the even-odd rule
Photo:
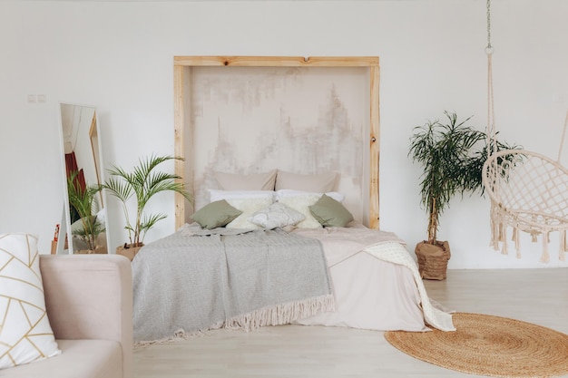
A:
<svg viewBox="0 0 568 378">
<path fill-rule="evenodd" d="M 194 222 L 132 261 L 137 343 L 290 323 L 453 329 L 451 315 L 429 302 L 404 241 L 357 222 L 340 193 L 211 189 L 210 196 Z"/>
</svg>

